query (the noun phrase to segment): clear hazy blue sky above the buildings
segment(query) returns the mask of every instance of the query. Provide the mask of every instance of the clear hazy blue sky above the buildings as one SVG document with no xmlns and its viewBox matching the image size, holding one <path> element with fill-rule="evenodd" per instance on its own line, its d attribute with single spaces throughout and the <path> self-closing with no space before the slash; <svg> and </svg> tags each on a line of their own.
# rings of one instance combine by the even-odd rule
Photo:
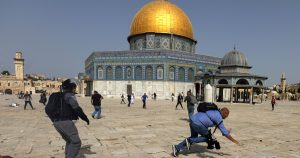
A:
<svg viewBox="0 0 300 158">
<path fill-rule="evenodd" d="M 128 50 L 135 13 L 150 0 L 0 0 L 0 71 L 77 76 L 93 51 Z M 234 44 L 269 77 L 300 82 L 299 0 L 171 0 L 189 16 L 197 53 L 223 57 Z"/>
</svg>

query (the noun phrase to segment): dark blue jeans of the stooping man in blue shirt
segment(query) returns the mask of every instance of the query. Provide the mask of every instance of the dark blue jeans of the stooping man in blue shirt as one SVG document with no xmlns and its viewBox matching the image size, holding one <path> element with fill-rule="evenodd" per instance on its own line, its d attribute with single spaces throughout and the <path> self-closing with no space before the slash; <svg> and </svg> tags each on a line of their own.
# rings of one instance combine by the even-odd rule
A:
<svg viewBox="0 0 300 158">
<path fill-rule="evenodd" d="M 204 127 L 203 125 L 201 125 L 201 126 L 196 125 L 191 121 L 190 128 L 191 128 L 191 137 L 188 138 L 190 141 L 190 144 L 201 143 L 201 142 L 207 141 L 207 138 L 205 136 L 208 135 L 208 129 L 206 127 Z M 199 134 L 201 136 L 198 137 Z M 185 146 L 186 146 L 185 139 L 178 145 L 175 145 L 175 147 L 178 151 L 182 150 Z"/>
</svg>

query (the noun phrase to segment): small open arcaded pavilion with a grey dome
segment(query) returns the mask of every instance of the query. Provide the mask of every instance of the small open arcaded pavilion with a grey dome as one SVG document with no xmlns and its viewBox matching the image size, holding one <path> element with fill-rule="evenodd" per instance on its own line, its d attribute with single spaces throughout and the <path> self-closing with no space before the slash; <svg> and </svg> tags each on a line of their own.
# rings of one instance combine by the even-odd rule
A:
<svg viewBox="0 0 300 158">
<path fill-rule="evenodd" d="M 218 73 L 203 73 L 197 79 L 213 86 L 214 101 L 262 102 L 265 97 L 265 81 L 268 78 L 251 74 L 251 68 L 246 56 L 234 48 L 222 58 Z"/>
</svg>

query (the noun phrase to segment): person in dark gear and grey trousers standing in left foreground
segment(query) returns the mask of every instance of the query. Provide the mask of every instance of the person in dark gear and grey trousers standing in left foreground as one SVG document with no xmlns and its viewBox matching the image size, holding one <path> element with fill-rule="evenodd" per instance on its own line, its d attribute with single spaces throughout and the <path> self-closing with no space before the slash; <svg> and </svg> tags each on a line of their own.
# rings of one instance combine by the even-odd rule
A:
<svg viewBox="0 0 300 158">
<path fill-rule="evenodd" d="M 90 124 L 88 117 L 76 100 L 75 90 L 76 84 L 70 79 L 65 80 L 62 83 L 62 92 L 51 94 L 45 108 L 55 129 L 66 141 L 66 158 L 75 158 L 81 147 L 81 140 L 73 120 L 78 120 L 80 117 L 87 125 Z"/>
</svg>

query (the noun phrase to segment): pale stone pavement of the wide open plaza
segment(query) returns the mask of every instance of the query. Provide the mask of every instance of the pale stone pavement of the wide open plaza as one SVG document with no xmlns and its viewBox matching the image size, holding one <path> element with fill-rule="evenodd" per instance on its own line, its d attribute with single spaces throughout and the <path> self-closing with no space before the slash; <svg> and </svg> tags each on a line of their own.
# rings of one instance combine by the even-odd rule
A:
<svg viewBox="0 0 300 158">
<path fill-rule="evenodd" d="M 33 97 L 35 110 L 23 110 L 23 100 L 0 95 L 0 155 L 16 158 L 64 157 L 64 141 Z M 175 110 L 176 102 L 149 100 L 147 109 L 136 100 L 132 107 L 120 99 L 103 100 L 103 118 L 91 118 L 90 98 L 77 97 L 90 125 L 77 121 L 82 139 L 78 157 L 161 158 L 172 157 L 171 145 L 189 136 L 187 111 Z M 20 107 L 9 107 L 11 103 Z M 241 146 L 227 140 L 217 130 L 221 150 L 207 150 L 206 144 L 192 145 L 179 157 L 300 157 L 300 102 L 278 102 L 271 111 L 263 104 L 219 104 L 231 110 L 225 126 Z M 184 106 L 186 107 L 186 105 Z"/>
</svg>

